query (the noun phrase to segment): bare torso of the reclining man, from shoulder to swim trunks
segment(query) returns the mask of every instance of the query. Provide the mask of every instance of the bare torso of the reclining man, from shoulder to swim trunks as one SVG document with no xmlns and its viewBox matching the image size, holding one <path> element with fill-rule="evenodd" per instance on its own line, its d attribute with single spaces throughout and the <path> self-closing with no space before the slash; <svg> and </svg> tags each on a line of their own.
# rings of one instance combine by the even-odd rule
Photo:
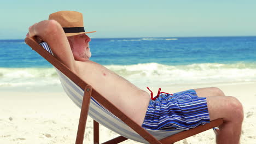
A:
<svg viewBox="0 0 256 144">
<path fill-rule="evenodd" d="M 150 96 L 131 82 L 102 65 L 92 62 L 75 62 L 77 74 L 111 103 L 142 125 Z"/>
</svg>

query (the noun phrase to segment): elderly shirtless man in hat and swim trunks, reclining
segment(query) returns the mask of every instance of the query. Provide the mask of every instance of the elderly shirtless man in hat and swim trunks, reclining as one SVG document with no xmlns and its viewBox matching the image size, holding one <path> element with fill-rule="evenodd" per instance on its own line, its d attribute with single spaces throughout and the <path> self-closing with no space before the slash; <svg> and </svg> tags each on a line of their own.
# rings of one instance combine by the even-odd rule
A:
<svg viewBox="0 0 256 144">
<path fill-rule="evenodd" d="M 27 37 L 36 35 L 48 43 L 54 55 L 111 103 L 145 129 L 190 129 L 223 118 L 217 143 L 239 143 L 243 109 L 234 97 L 218 88 L 199 88 L 153 98 L 123 77 L 89 60 L 90 38 L 83 16 L 77 11 L 58 11 L 49 20 L 35 23 Z M 109 91 L 111 89 L 111 91 Z"/>
</svg>

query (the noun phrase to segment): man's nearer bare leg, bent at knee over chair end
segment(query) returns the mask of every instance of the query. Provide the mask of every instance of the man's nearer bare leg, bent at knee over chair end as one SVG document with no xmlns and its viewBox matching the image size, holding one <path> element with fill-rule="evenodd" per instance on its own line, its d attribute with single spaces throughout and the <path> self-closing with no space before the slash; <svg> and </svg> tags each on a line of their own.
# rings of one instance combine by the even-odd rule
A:
<svg viewBox="0 0 256 144">
<path fill-rule="evenodd" d="M 243 121 L 243 108 L 234 97 L 207 97 L 210 121 L 223 118 L 216 134 L 217 143 L 239 143 Z"/>
</svg>

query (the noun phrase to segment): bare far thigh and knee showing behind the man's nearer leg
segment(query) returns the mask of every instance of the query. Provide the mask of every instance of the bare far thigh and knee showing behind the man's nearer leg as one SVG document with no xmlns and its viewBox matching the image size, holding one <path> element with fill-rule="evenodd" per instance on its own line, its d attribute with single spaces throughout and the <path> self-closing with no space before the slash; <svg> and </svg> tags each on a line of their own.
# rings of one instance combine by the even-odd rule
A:
<svg viewBox="0 0 256 144">
<path fill-rule="evenodd" d="M 197 88 L 194 90 L 198 97 L 225 96 L 223 91 L 217 87 Z"/>
</svg>

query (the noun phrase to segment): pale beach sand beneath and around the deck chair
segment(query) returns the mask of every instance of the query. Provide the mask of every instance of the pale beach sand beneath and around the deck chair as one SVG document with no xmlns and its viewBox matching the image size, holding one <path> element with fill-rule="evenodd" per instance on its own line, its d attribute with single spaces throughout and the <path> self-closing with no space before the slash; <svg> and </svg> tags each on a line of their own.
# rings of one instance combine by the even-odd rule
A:
<svg viewBox="0 0 256 144">
<path fill-rule="evenodd" d="M 200 85 L 162 86 L 173 92 L 190 88 L 219 87 L 226 95 L 239 99 L 245 118 L 241 143 L 256 143 L 256 83 L 213 83 Z M 158 88 L 152 88 L 156 93 Z M 0 143 L 74 143 L 80 109 L 64 92 L 0 91 Z M 86 125 L 84 143 L 92 142 L 92 119 Z M 100 142 L 118 134 L 100 126 Z M 139 143 L 128 140 L 122 143 Z M 191 136 L 177 143 L 215 143 L 212 130 Z"/>
</svg>

